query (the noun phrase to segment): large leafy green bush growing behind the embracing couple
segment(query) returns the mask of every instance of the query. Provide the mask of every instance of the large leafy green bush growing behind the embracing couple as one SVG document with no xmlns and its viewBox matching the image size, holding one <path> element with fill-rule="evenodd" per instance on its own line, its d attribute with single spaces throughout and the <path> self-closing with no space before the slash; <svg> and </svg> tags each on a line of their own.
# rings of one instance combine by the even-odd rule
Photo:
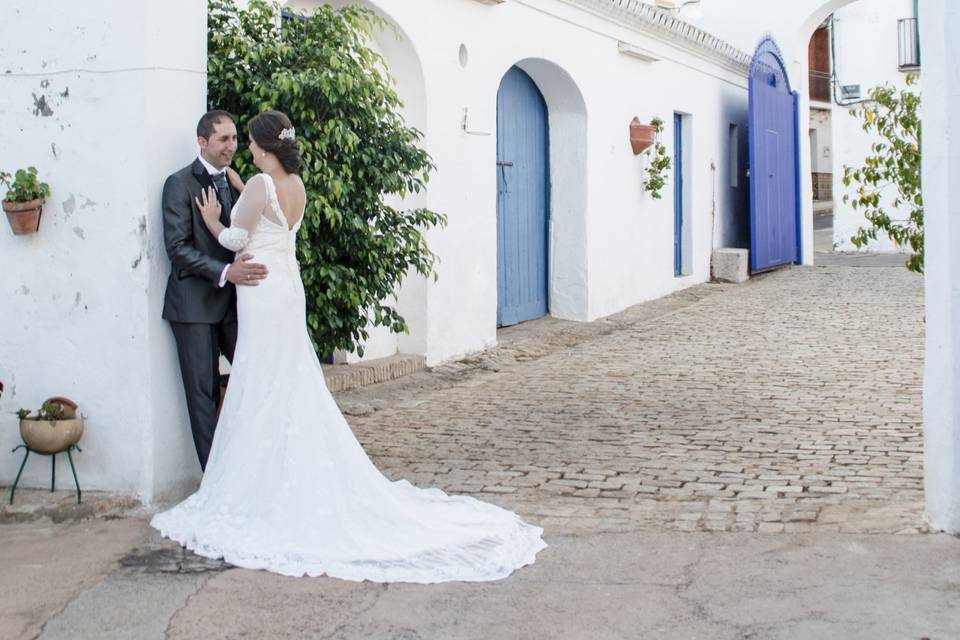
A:
<svg viewBox="0 0 960 640">
<path fill-rule="evenodd" d="M 235 114 L 241 131 L 267 109 L 293 120 L 307 188 L 298 243 L 307 324 L 321 353 L 362 355 L 368 322 L 407 330 L 389 304 L 403 278 L 436 277 L 424 231 L 446 217 L 385 201 L 419 193 L 434 166 L 422 134 L 399 114 L 383 58 L 366 45 L 382 19 L 327 4 L 309 16 L 280 13 L 266 0 L 245 9 L 210 0 L 208 101 Z M 237 165 L 244 175 L 255 170 L 247 153 Z"/>
</svg>

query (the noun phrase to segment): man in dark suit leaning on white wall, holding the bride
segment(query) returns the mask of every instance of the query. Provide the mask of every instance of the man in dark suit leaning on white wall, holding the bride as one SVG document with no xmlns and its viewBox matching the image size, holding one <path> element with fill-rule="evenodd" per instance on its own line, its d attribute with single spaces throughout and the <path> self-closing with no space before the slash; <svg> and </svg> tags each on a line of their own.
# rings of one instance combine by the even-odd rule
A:
<svg viewBox="0 0 960 640">
<path fill-rule="evenodd" d="M 197 123 L 200 155 L 163 185 L 163 240 L 170 258 L 170 277 L 163 318 L 177 341 L 180 374 L 187 395 L 193 443 L 206 469 L 220 399 L 220 355 L 233 360 L 237 344 L 237 299 L 234 285 L 256 286 L 267 276 L 248 254 L 234 254 L 210 235 L 200 217 L 197 198 L 213 189 L 220 202 L 220 221 L 230 224 L 230 210 L 239 197 L 226 169 L 237 152 L 237 126 L 226 111 L 209 111 Z"/>
</svg>

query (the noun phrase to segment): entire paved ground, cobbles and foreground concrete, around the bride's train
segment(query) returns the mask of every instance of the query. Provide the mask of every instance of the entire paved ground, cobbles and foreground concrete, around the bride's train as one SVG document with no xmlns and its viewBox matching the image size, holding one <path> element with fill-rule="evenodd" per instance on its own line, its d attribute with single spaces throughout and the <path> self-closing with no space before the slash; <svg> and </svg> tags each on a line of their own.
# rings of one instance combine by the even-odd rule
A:
<svg viewBox="0 0 960 640">
<path fill-rule="evenodd" d="M 545 527 L 508 579 L 232 569 L 116 497 L 25 491 L 0 510 L 0 640 L 960 637 L 960 540 L 923 523 L 922 280 L 818 261 L 337 394 L 391 477 Z"/>
</svg>

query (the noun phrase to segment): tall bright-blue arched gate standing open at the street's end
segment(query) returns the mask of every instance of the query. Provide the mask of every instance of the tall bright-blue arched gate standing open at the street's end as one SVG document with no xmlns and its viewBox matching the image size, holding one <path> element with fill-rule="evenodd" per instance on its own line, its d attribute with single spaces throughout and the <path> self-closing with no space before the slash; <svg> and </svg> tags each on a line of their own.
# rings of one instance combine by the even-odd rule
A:
<svg viewBox="0 0 960 640">
<path fill-rule="evenodd" d="M 798 96 L 772 38 L 750 65 L 750 269 L 800 261 Z"/>
</svg>

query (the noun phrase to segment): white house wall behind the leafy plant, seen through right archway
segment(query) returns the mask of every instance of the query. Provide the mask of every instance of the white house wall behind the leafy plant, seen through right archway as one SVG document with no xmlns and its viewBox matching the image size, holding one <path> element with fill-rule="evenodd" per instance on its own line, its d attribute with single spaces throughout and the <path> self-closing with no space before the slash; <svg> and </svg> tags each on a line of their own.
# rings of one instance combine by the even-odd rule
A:
<svg viewBox="0 0 960 640">
<path fill-rule="evenodd" d="M 913 17 L 913 0 L 882 0 L 856 2 L 839 9 L 834 14 L 834 38 L 836 42 L 834 69 L 839 84 L 859 84 L 863 97 L 871 87 L 890 84 L 898 89 L 906 88 L 906 74 L 899 71 L 899 48 L 897 20 Z M 913 87 L 919 91 L 919 85 Z M 833 241 L 839 251 L 899 251 L 893 242 L 881 234 L 863 249 L 857 249 L 850 241 L 857 229 L 866 226 L 863 209 L 854 209 L 843 202 L 844 195 L 855 195 L 856 186 L 843 185 L 845 166 L 863 166 L 864 159 L 872 155 L 870 146 L 880 138 L 867 134 L 861 121 L 854 118 L 849 107 L 833 107 L 834 165 L 833 165 Z M 894 219 L 905 219 L 909 212 L 893 207 L 896 189 L 887 190 L 885 208 Z"/>
</svg>

